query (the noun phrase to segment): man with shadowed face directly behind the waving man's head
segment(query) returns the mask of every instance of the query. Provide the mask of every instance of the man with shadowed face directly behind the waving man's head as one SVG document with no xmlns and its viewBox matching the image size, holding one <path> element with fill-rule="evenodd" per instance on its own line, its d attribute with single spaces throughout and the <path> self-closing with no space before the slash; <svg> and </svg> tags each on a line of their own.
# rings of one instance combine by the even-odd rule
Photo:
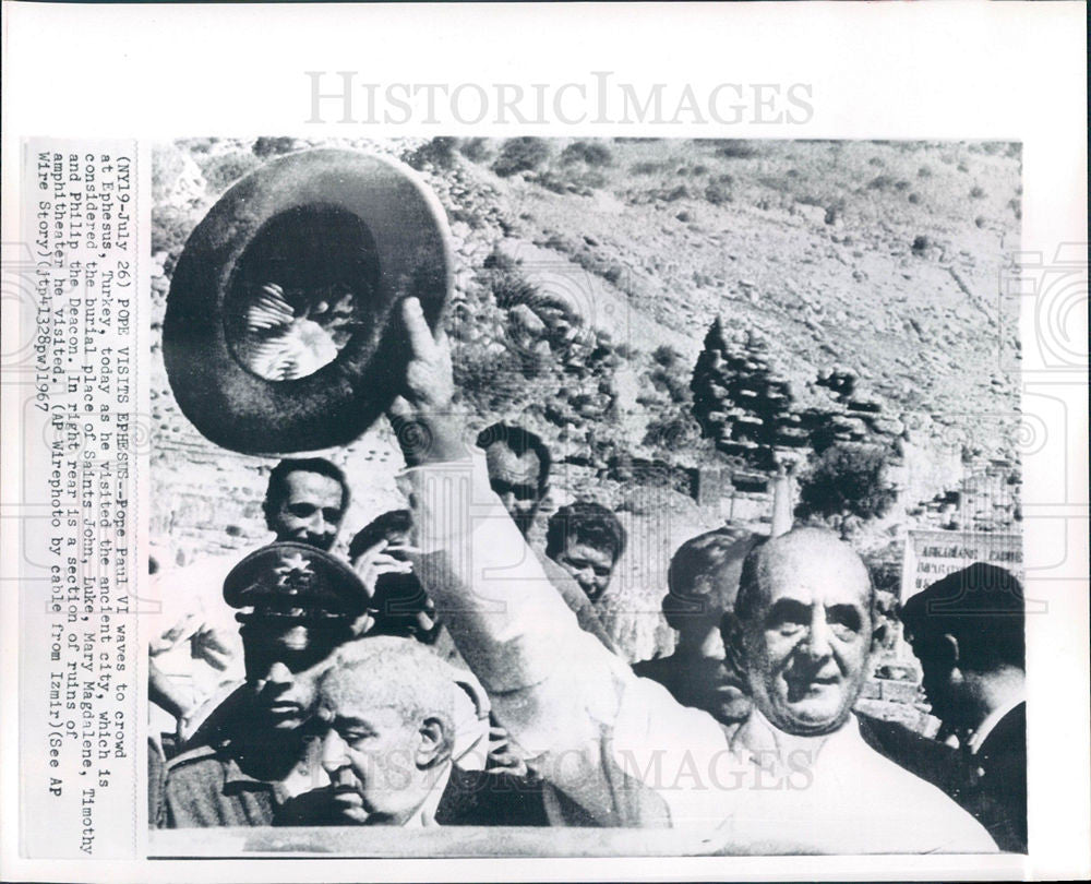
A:
<svg viewBox="0 0 1091 884">
<path fill-rule="evenodd" d="M 712 715 L 724 725 L 738 725 L 750 714 L 750 698 L 740 673 L 724 660 L 720 622 L 734 607 L 743 559 L 764 538 L 718 528 L 686 540 L 671 559 L 663 617 L 678 631 L 674 653 L 633 666 L 652 679 L 683 706 Z"/>
</svg>

